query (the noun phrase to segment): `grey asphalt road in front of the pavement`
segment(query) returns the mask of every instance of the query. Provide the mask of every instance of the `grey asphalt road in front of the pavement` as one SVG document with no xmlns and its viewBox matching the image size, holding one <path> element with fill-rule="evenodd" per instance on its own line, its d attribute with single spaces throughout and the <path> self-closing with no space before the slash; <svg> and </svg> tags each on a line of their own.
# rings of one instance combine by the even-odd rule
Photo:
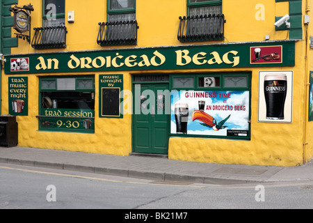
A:
<svg viewBox="0 0 313 223">
<path fill-rule="evenodd" d="M 131 217 L 128 210 L 134 209 L 175 210 L 167 217 L 184 217 L 188 209 L 312 209 L 313 182 L 163 183 L 0 164 L 0 209 L 33 208 L 124 209 L 122 217 Z"/>
</svg>

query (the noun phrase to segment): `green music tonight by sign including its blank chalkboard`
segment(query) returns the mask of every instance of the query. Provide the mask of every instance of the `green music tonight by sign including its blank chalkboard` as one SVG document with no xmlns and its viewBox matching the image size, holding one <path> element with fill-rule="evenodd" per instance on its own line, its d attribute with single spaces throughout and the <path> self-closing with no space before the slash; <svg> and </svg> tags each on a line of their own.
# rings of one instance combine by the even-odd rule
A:
<svg viewBox="0 0 313 223">
<path fill-rule="evenodd" d="M 99 75 L 99 117 L 122 118 L 123 75 Z"/>
</svg>

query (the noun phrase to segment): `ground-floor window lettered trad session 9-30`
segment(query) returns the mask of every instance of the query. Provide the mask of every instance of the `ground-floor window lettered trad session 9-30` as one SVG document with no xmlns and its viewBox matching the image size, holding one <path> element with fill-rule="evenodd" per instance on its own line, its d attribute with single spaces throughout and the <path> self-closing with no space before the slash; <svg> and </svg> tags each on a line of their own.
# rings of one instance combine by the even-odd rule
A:
<svg viewBox="0 0 313 223">
<path fill-rule="evenodd" d="M 41 77 L 39 130 L 95 132 L 95 79 Z"/>
</svg>

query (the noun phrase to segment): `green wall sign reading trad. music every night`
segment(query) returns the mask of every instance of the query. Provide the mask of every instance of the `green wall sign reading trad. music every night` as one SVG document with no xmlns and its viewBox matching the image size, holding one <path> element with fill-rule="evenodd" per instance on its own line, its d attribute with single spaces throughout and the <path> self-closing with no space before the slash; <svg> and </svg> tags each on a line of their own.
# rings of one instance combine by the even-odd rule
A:
<svg viewBox="0 0 313 223">
<path fill-rule="evenodd" d="M 27 116 L 29 114 L 28 77 L 8 78 L 9 114 Z"/>
</svg>

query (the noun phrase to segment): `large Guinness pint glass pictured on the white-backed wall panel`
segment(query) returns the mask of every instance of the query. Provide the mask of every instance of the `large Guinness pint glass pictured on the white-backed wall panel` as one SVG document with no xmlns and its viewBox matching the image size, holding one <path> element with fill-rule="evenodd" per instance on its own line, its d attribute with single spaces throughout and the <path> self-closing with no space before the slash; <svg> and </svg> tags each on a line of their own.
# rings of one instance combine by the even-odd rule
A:
<svg viewBox="0 0 313 223">
<path fill-rule="evenodd" d="M 287 75 L 273 73 L 264 77 L 264 97 L 267 119 L 284 119 L 284 102 L 287 95 Z"/>
</svg>

